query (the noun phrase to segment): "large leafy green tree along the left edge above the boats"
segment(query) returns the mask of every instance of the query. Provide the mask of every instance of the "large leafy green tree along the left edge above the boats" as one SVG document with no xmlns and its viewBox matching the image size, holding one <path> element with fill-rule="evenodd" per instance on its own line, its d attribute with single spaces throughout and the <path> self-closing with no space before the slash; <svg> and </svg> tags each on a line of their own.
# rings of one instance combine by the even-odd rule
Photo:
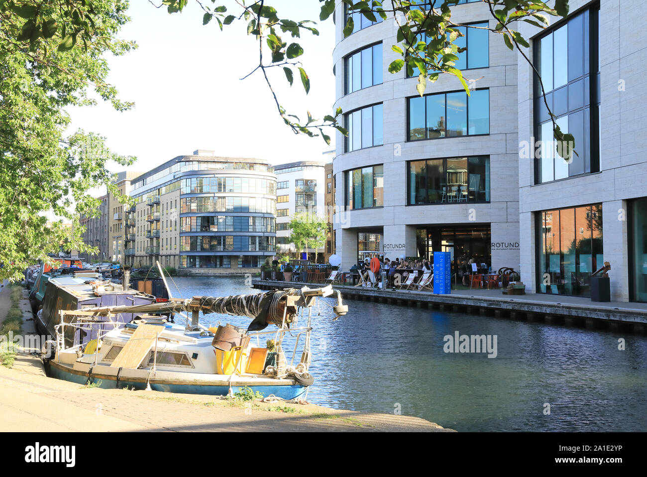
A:
<svg viewBox="0 0 647 477">
<path fill-rule="evenodd" d="M 63 225 L 98 214 L 90 188 L 106 184 L 126 200 L 105 166 L 133 159 L 114 155 L 94 133 L 65 135 L 65 107 L 93 104 L 90 88 L 118 110 L 132 106 L 106 81 L 105 55 L 135 46 L 116 38 L 126 8 L 121 0 L 0 0 L 0 278 L 18 280 L 60 249 L 96 251 L 83 243 L 82 227 Z M 59 218 L 48 219 L 49 211 Z"/>
</svg>

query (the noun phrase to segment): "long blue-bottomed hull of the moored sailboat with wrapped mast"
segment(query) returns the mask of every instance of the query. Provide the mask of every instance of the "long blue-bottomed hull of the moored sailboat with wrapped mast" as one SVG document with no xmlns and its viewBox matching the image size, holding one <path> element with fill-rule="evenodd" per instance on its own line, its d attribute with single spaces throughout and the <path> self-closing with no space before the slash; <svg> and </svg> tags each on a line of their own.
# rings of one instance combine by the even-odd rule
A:
<svg viewBox="0 0 647 477">
<path fill-rule="evenodd" d="M 64 381 L 71 381 L 72 383 L 86 384 L 88 381 L 88 373 L 85 370 L 74 369 L 74 366 L 63 364 L 56 361 L 44 361 L 45 373 L 47 376 L 56 379 L 63 379 Z M 104 369 L 98 369 L 104 368 Z M 105 369 L 107 368 L 107 369 Z M 109 373 L 106 373 L 108 372 Z M 104 372 L 102 372 L 104 371 Z M 229 393 L 231 388 L 232 392 L 240 392 L 245 386 L 252 389 L 253 392 L 260 392 L 263 397 L 270 394 L 285 399 L 287 401 L 300 397 L 307 386 L 295 383 L 294 381 L 276 380 L 276 384 L 268 383 L 270 379 L 254 379 L 243 376 L 234 376 L 231 383 L 223 379 L 222 375 L 217 375 L 220 379 L 164 379 L 159 375 L 163 372 L 158 372 L 158 377 L 151 375 L 146 377 L 146 370 L 123 370 L 118 376 L 115 368 L 108 368 L 100 366 L 94 368 L 90 375 L 91 382 L 98 384 L 98 387 L 105 389 L 115 388 L 129 388 L 135 390 L 144 390 L 147 386 L 147 381 L 151 386 L 151 390 L 160 392 L 172 392 L 180 394 L 204 394 L 214 396 L 225 396 Z M 173 373 L 177 375 L 177 373 Z M 135 376 L 138 375 L 138 376 Z M 220 381 L 220 382 L 217 382 Z M 254 383 L 254 381 L 263 381 L 263 383 Z M 231 384 L 231 386 L 230 386 Z"/>
</svg>

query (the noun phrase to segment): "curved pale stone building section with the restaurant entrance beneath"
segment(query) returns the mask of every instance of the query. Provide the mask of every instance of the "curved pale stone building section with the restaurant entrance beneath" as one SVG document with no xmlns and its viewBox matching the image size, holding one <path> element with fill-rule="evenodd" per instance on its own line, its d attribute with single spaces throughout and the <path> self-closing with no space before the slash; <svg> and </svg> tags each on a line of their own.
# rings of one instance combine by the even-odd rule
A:
<svg viewBox="0 0 647 477">
<path fill-rule="evenodd" d="M 517 269 L 517 58 L 483 29 L 496 25 L 488 6 L 452 7 L 452 19 L 468 25 L 456 64 L 475 80 L 470 94 L 441 75 L 424 96 L 417 71 L 388 71 L 401 58 L 391 49 L 393 18 L 371 23 L 353 14 L 355 31 L 344 38 L 345 8 L 335 12 L 333 53 L 335 107 L 349 131 L 338 133 L 333 162 L 342 268 L 376 254 L 432 259 L 445 251 L 455 268 L 473 258 Z"/>
</svg>

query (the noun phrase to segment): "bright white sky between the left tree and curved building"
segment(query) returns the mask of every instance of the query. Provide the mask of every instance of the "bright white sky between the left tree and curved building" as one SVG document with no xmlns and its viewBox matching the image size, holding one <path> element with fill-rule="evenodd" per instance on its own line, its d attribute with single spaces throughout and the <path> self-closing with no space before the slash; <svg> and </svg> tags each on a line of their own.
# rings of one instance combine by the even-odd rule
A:
<svg viewBox="0 0 647 477">
<path fill-rule="evenodd" d="M 232 14 L 240 12 L 233 0 L 217 4 L 227 5 Z M 271 5 L 280 18 L 317 21 L 314 27 L 320 31 L 319 36 L 303 32 L 302 38 L 294 39 L 305 49 L 301 60 L 311 80 L 308 95 L 298 72 L 291 88 L 281 68 L 270 70 L 279 101 L 300 118 L 307 110 L 316 118 L 331 114 L 332 16 L 318 21 L 318 0 L 274 0 Z M 131 0 L 129 15 L 131 22 L 120 37 L 137 41 L 138 49 L 109 58 L 109 82 L 135 107 L 119 113 L 100 100 L 94 107 L 71 108 L 71 131 L 82 128 L 106 137 L 115 153 L 136 156 L 129 170 L 141 172 L 198 148 L 272 164 L 323 159 L 325 142 L 296 136 L 285 126 L 260 72 L 240 79 L 258 64 L 258 41 L 247 36 L 244 19 L 223 32 L 215 20 L 203 26 L 203 11 L 193 0 L 181 14 L 156 9 L 148 0 Z M 289 33 L 281 35 L 291 43 Z M 325 132 L 334 142 L 333 131 Z M 113 172 L 120 169 L 111 167 Z"/>
</svg>

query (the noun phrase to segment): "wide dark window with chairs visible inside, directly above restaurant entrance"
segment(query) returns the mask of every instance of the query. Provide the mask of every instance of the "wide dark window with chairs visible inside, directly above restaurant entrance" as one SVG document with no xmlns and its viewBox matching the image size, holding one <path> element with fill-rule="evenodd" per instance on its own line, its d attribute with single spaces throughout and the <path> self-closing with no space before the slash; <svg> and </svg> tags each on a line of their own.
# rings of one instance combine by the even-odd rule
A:
<svg viewBox="0 0 647 477">
<path fill-rule="evenodd" d="M 490 158 L 409 162 L 409 205 L 490 201 Z"/>
</svg>

